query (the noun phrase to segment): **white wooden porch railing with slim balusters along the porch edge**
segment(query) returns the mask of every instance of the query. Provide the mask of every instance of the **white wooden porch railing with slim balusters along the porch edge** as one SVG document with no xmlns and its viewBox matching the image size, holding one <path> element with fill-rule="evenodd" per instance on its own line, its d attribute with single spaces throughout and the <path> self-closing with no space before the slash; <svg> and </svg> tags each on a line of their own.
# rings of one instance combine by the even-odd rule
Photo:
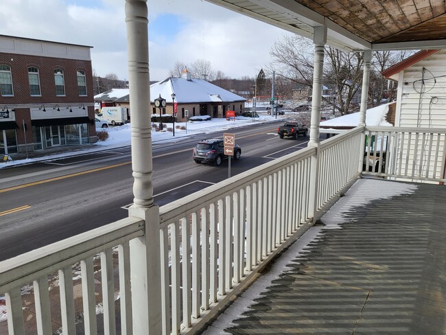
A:
<svg viewBox="0 0 446 335">
<path fill-rule="evenodd" d="M 360 175 L 362 130 L 358 127 L 323 141 L 319 152 L 316 147 L 299 150 L 160 208 L 161 247 L 153 256 L 161 257 L 158 314 L 163 334 L 193 333 L 202 327 L 255 279 L 293 234 L 309 227 L 314 209 L 322 209 Z M 384 172 L 367 174 L 412 178 L 421 171 L 429 172 L 423 178 L 443 181 L 437 174 L 444 167 L 443 130 L 367 128 L 366 135 L 367 139 L 375 136 L 378 148 L 386 152 Z M 379 142 L 379 138 L 386 140 Z M 366 147 L 368 154 L 378 157 L 377 145 L 367 141 Z M 426 158 L 423 169 L 410 165 L 410 157 Z M 317 171 L 312 170 L 314 159 L 318 159 Z M 60 314 L 56 322 L 62 324 L 64 334 L 75 334 L 76 322 L 84 323 L 86 334 L 97 334 L 100 310 L 104 332 L 115 334 L 119 297 L 121 333 L 133 334 L 130 270 L 138 264 L 131 264 L 129 242 L 141 240 L 144 233 L 143 220 L 127 218 L 1 262 L 0 297 L 4 294 L 6 313 L 1 314 L 0 305 L 0 327 L 3 317 L 9 335 L 26 334 L 30 327 L 34 333 L 51 334 L 51 321 Z M 102 288 L 95 287 L 95 280 Z M 34 326 L 24 316 L 23 286 L 34 290 Z M 82 304 L 75 303 L 80 297 Z"/>
</svg>

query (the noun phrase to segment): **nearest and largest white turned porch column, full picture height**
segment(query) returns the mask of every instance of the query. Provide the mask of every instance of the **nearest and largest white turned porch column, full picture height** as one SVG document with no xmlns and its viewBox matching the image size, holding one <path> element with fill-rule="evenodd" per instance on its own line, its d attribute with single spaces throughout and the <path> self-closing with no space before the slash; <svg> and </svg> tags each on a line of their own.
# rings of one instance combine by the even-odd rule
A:
<svg viewBox="0 0 446 335">
<path fill-rule="evenodd" d="M 152 134 L 147 0 L 126 0 L 134 205 L 129 215 L 145 221 L 145 235 L 130 241 L 133 334 L 162 333 L 159 207 L 152 186 Z"/>
</svg>

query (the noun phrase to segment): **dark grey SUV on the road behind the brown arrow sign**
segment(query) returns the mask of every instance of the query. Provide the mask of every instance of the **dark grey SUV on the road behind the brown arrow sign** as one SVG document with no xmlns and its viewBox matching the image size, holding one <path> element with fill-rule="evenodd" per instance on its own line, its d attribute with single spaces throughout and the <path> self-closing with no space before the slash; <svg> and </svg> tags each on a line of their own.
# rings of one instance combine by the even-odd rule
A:
<svg viewBox="0 0 446 335">
<path fill-rule="evenodd" d="M 239 159 L 242 154 L 242 148 L 238 144 L 234 145 L 234 159 Z M 213 163 L 220 165 L 223 159 L 228 158 L 224 154 L 224 143 L 222 139 L 203 139 L 198 142 L 192 152 L 195 163 Z"/>
</svg>

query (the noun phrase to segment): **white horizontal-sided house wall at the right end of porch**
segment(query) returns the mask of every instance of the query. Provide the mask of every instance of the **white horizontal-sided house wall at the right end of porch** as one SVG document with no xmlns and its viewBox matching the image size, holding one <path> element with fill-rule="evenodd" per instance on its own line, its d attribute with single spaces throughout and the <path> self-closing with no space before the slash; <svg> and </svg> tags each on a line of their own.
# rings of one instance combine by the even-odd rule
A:
<svg viewBox="0 0 446 335">
<path fill-rule="evenodd" d="M 395 126 L 446 128 L 446 51 L 438 51 L 399 73 Z M 443 176 L 444 169 L 434 164 L 435 157 L 425 154 L 427 148 L 436 148 L 437 142 L 443 155 L 445 139 L 436 135 L 413 135 L 410 140 L 406 135 L 403 139 L 392 139 L 391 145 L 392 150 L 398 150 L 398 157 L 401 154 L 398 162 L 401 167 L 407 165 L 410 170 L 412 165 L 417 168 L 421 165 L 421 175 L 428 168 L 431 173 Z"/>
</svg>

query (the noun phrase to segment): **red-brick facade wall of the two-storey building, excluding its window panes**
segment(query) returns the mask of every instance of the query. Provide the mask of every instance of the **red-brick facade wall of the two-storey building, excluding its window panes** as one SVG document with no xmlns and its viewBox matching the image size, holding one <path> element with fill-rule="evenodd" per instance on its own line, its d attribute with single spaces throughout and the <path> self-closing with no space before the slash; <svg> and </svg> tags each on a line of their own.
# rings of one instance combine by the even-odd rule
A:
<svg viewBox="0 0 446 335">
<path fill-rule="evenodd" d="M 0 65 L 10 67 L 12 77 L 13 95 L 0 93 L 0 109 L 10 111 L 9 117 L 0 117 L 0 122 L 15 122 L 16 152 L 5 149 L 5 143 L 0 141 L 0 151 L 8 150 L 8 153 L 19 153 L 38 150 L 41 142 L 34 143 L 36 132 L 40 128 L 32 123 L 47 119 L 73 119 L 82 117 L 85 120 L 83 129 L 88 129 L 86 141 L 97 141 L 93 110 L 93 76 L 90 60 L 90 47 L 80 45 L 65 45 L 37 41 L 13 36 L 0 37 Z M 28 79 L 28 67 L 38 69 L 40 95 L 30 94 L 30 82 Z M 56 84 L 54 69 L 60 68 L 64 72 L 65 95 L 56 96 Z M 86 95 L 78 93 L 77 70 L 85 72 Z M 59 111 L 57 111 L 59 108 Z M 45 109 L 45 112 L 43 111 Z M 87 122 L 86 119 L 89 119 Z M 0 127 L 2 124 L 0 124 Z M 66 126 L 66 125 L 65 125 Z M 65 126 L 60 126 L 64 128 Z M 5 127 L 2 127 L 5 128 Z M 0 137 L 6 130 L 1 130 Z M 9 132 L 11 130 L 8 130 Z M 85 138 L 84 138 L 85 139 Z M 61 141 L 60 143 L 62 143 Z M 25 145 L 26 143 L 26 145 Z M 66 141 L 65 143 L 68 143 Z M 85 143 L 82 141 L 82 143 Z M 63 144 L 62 144 L 63 145 Z M 43 148 L 40 146 L 40 148 Z"/>
</svg>

